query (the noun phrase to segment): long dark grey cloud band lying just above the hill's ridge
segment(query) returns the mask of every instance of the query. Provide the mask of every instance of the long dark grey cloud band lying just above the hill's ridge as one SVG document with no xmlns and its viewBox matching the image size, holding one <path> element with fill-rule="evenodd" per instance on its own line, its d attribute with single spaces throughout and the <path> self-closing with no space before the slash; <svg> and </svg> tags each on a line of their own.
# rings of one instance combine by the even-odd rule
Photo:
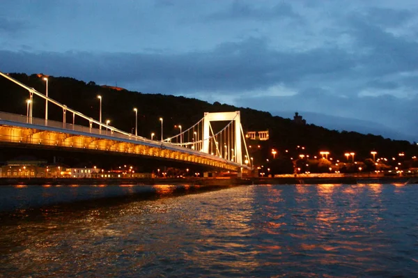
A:
<svg viewBox="0 0 418 278">
<path fill-rule="evenodd" d="M 338 59 L 336 59 L 338 57 Z M 129 54 L 88 52 L 0 52 L 8 71 L 50 72 L 98 82 L 137 84 L 147 93 L 242 91 L 295 84 L 309 75 L 345 75 L 354 63 L 339 49 L 302 53 L 269 49 L 265 40 L 250 38 L 224 43 L 210 52 Z"/>
</svg>

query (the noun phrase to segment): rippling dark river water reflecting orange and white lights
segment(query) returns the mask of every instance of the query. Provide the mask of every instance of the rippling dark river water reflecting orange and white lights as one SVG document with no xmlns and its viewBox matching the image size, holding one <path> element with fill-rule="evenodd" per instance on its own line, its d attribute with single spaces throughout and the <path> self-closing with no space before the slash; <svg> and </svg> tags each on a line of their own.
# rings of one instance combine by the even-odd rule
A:
<svg viewBox="0 0 418 278">
<path fill-rule="evenodd" d="M 418 185 L 154 188 L 148 199 L 9 202 L 0 277 L 418 277 Z"/>
</svg>

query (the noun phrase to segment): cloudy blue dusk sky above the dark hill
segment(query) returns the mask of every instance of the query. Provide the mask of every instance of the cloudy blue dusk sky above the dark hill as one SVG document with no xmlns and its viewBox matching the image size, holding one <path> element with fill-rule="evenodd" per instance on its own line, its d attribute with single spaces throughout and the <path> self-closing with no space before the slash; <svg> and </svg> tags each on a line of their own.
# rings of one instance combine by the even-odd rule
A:
<svg viewBox="0 0 418 278">
<path fill-rule="evenodd" d="M 2 0 L 0 71 L 418 141 L 416 0 Z"/>
</svg>

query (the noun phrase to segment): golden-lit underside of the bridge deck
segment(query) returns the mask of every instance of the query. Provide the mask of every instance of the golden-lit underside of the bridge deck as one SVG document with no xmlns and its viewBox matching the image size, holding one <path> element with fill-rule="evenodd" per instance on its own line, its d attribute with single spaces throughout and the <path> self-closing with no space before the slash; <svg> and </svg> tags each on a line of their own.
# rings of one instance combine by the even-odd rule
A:
<svg viewBox="0 0 418 278">
<path fill-rule="evenodd" d="M 227 169 L 239 171 L 238 167 L 211 160 L 207 157 L 199 157 L 189 153 L 181 153 L 166 148 L 144 146 L 140 144 L 117 141 L 115 139 L 103 139 L 88 137 L 78 134 L 68 134 L 49 130 L 36 130 L 18 126 L 0 125 L 0 142 L 14 146 L 33 146 L 36 148 L 56 148 L 68 150 L 92 150 L 98 153 L 111 153 L 121 156 L 149 157 L 159 160 L 176 160 L 187 164 L 199 164 L 212 169 Z"/>
</svg>

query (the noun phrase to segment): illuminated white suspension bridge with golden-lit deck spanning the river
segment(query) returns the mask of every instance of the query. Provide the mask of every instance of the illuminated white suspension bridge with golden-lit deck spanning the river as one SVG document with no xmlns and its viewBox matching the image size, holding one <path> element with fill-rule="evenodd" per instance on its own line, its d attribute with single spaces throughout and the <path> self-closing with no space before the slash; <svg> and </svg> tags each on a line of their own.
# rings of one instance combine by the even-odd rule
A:
<svg viewBox="0 0 418 278">
<path fill-rule="evenodd" d="M 147 139 L 137 135 L 137 127 L 135 134 L 132 134 L 133 132 L 118 130 L 109 125 L 109 121 L 102 123 L 100 95 L 98 95 L 100 98 L 98 121 L 49 98 L 47 92 L 44 95 L 3 72 L 0 72 L 0 75 L 29 92 L 29 100 L 26 101 L 26 116 L 0 111 L 1 144 L 32 146 L 40 149 L 95 150 L 100 153 L 138 155 L 200 164 L 212 169 L 225 169 L 238 171 L 238 173 L 251 171 L 253 167 L 240 123 L 240 111 L 207 112 L 191 127 L 182 131 L 182 127 L 179 126 L 179 133 L 176 136 L 165 139 L 162 128 L 163 119 L 160 118 L 161 140 Z M 35 96 L 45 100 L 45 118 L 33 117 L 33 97 Z M 62 109 L 62 122 L 48 119 L 49 102 Z M 68 123 L 67 114 L 72 116 L 72 123 Z M 75 125 L 76 117 L 82 118 L 86 125 Z M 213 121 L 226 121 L 227 124 L 214 133 L 211 125 Z M 244 157 L 242 149 L 246 153 Z"/>
</svg>

